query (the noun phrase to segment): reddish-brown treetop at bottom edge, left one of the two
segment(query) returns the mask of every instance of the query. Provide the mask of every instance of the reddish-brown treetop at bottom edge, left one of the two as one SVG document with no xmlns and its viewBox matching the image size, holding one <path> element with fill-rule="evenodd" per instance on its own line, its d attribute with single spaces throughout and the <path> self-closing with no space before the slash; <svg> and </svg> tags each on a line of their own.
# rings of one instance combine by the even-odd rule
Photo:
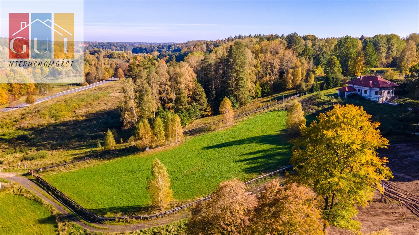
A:
<svg viewBox="0 0 419 235">
<path fill-rule="evenodd" d="M 211 200 L 200 202 L 191 210 L 186 223 L 189 235 L 246 234 L 256 197 L 248 195 L 246 186 L 238 179 L 220 183 Z"/>
</svg>

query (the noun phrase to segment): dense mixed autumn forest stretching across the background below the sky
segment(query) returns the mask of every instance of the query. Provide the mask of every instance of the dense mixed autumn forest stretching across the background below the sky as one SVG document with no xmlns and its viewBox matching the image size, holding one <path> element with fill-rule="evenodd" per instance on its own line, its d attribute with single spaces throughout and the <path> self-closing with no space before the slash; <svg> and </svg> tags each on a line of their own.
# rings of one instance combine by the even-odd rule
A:
<svg viewBox="0 0 419 235">
<path fill-rule="evenodd" d="M 120 71 L 119 76 L 132 83 L 138 118 L 150 121 L 159 112 L 172 111 L 186 125 L 217 113 L 224 97 L 236 109 L 279 91 L 308 93 L 334 88 L 351 77 L 375 73 L 376 68 L 392 68 L 382 76 L 405 82 L 400 92 L 419 96 L 413 85 L 419 61 L 417 33 L 406 38 L 396 34 L 318 38 L 290 33 L 186 43 L 85 44 L 85 83 Z M 320 86 L 317 79 L 321 77 Z M 36 88 L 45 89 L 41 85 L 16 88 L 4 84 L 0 97 L 14 99 Z"/>
</svg>

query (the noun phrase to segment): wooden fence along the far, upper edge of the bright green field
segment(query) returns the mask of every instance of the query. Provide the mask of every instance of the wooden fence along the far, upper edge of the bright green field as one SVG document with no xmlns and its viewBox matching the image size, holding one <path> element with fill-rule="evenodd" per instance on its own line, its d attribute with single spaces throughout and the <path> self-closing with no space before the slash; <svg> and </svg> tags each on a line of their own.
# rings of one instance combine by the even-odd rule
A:
<svg viewBox="0 0 419 235">
<path fill-rule="evenodd" d="M 294 96 L 289 96 L 289 97 L 287 97 L 285 99 L 282 99 L 280 101 L 277 101 L 277 102 L 275 102 L 273 104 L 268 104 L 266 106 L 263 106 L 263 107 L 260 107 L 260 108 L 254 109 L 254 110 L 247 111 L 247 112 L 245 112 L 243 114 L 238 114 L 238 115 L 234 116 L 234 118 L 237 119 L 237 118 L 240 118 L 242 116 L 246 116 L 248 114 L 252 114 L 252 113 L 255 113 L 257 111 L 260 111 L 262 109 L 268 109 L 268 108 L 270 108 L 270 107 L 272 107 L 274 105 L 280 104 L 280 103 L 285 102 L 285 101 L 288 101 L 290 99 L 297 98 L 298 96 L 300 96 L 300 94 L 297 93 Z M 194 129 L 183 131 L 183 133 L 184 134 L 190 134 L 190 133 L 193 133 L 193 132 L 196 132 L 196 131 L 205 129 L 205 128 L 209 128 L 211 126 L 214 126 L 214 125 L 217 125 L 217 124 L 220 124 L 220 123 L 222 123 L 222 121 L 216 121 L 214 123 L 206 124 L 204 126 L 199 126 L 197 128 L 194 128 Z M 87 161 L 89 159 L 96 159 L 96 158 L 106 157 L 109 154 L 115 154 L 117 152 L 120 152 L 120 151 L 123 151 L 123 150 L 126 150 L 126 149 L 130 149 L 130 148 L 133 148 L 135 146 L 136 145 L 134 144 L 132 146 L 125 147 L 125 148 L 122 148 L 122 149 L 116 149 L 116 150 L 113 150 L 113 151 L 106 151 L 106 152 L 102 152 L 102 153 L 98 153 L 98 154 L 88 154 L 88 155 L 86 155 L 84 157 L 81 157 L 79 159 L 72 160 L 70 162 L 63 162 L 63 163 L 59 163 L 59 164 L 53 164 L 53 165 L 49 165 L 49 166 L 45 166 L 45 167 L 39 167 L 39 168 L 36 168 L 36 169 L 29 170 L 28 171 L 28 174 L 31 174 L 31 171 L 33 171 L 33 172 L 41 172 L 41 171 L 46 170 L 46 169 L 51 169 L 51 168 L 55 168 L 55 167 L 63 167 L 63 166 L 67 166 L 67 165 L 70 165 L 70 164 L 73 164 L 73 163 L 76 163 L 76 162 L 84 162 L 84 161 Z"/>
</svg>

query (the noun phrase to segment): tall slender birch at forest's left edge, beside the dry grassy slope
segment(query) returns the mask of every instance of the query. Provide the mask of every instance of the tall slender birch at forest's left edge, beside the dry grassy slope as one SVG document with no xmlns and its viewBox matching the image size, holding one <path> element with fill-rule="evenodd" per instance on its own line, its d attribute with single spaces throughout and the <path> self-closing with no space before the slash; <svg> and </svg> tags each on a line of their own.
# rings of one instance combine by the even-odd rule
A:
<svg viewBox="0 0 419 235">
<path fill-rule="evenodd" d="M 131 78 L 123 79 L 122 92 L 124 93 L 124 99 L 121 105 L 121 121 L 124 129 L 127 129 L 138 122 L 136 88 Z"/>
</svg>

